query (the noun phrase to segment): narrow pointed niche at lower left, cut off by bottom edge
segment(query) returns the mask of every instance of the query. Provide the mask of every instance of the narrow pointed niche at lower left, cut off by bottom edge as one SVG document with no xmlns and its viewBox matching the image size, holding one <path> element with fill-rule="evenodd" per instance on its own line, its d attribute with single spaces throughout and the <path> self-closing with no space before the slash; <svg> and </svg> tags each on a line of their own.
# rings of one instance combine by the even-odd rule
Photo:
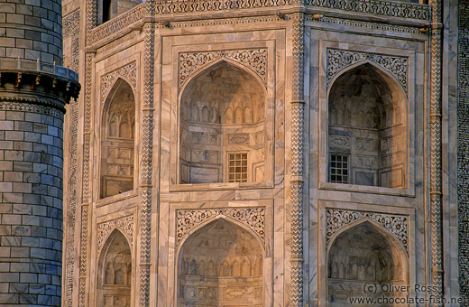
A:
<svg viewBox="0 0 469 307">
<path fill-rule="evenodd" d="M 130 306 L 131 284 L 132 252 L 122 232 L 115 229 L 99 256 L 97 306 Z"/>
</svg>

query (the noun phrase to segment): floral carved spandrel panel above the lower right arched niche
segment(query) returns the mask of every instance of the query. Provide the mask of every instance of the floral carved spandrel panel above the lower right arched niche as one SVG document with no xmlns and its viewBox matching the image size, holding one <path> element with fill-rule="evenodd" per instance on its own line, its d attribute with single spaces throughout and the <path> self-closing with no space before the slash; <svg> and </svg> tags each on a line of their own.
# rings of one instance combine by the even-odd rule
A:
<svg viewBox="0 0 469 307">
<path fill-rule="evenodd" d="M 330 238 L 341 228 L 361 219 L 371 219 L 396 236 L 406 251 L 409 252 L 409 219 L 407 216 L 345 209 L 326 209 L 326 219 L 326 247 L 329 245 Z"/>
</svg>

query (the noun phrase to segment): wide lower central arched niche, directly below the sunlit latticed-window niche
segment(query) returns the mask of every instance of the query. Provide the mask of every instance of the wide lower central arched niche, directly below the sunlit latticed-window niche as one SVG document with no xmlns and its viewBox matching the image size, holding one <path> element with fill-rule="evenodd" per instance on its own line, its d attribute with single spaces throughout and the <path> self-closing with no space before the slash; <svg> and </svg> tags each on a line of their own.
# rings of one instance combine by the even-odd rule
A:
<svg viewBox="0 0 469 307">
<path fill-rule="evenodd" d="M 253 234 L 225 219 L 209 223 L 179 251 L 178 307 L 262 307 L 262 263 Z"/>
</svg>

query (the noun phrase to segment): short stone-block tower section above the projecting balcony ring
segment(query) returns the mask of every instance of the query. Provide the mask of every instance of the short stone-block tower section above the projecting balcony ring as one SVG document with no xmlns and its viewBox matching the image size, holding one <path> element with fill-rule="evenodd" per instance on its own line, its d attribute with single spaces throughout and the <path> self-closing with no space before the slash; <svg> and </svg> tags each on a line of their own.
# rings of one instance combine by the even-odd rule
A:
<svg viewBox="0 0 469 307">
<path fill-rule="evenodd" d="M 0 0 L 0 57 L 62 62 L 60 0 Z"/>
</svg>

